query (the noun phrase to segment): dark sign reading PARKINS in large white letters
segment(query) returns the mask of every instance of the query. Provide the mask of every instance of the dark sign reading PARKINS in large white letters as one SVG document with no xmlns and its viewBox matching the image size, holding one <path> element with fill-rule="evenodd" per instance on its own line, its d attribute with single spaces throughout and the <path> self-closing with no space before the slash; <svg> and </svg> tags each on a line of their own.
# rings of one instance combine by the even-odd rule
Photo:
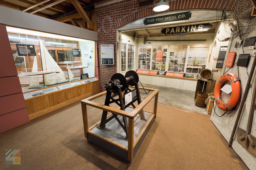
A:
<svg viewBox="0 0 256 170">
<path fill-rule="evenodd" d="M 208 31 L 212 29 L 212 24 L 196 24 L 196 25 L 186 25 L 186 26 L 176 26 L 164 28 L 161 32 L 163 34 L 176 34 L 182 32 L 201 32 Z"/>
</svg>

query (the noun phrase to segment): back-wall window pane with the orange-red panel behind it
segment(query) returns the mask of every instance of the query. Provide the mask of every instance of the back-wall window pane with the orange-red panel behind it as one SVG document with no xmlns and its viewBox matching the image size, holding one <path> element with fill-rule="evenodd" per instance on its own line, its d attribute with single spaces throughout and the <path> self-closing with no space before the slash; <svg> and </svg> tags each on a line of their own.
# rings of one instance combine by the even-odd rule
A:
<svg viewBox="0 0 256 170">
<path fill-rule="evenodd" d="M 153 46 L 151 70 L 165 71 L 168 45 Z"/>
</svg>

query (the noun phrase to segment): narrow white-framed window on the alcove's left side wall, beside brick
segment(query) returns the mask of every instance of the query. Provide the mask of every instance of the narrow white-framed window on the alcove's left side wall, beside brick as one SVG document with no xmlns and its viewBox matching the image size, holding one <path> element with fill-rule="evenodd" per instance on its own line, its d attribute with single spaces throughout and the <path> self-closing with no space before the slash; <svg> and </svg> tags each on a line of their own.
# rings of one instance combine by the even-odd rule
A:
<svg viewBox="0 0 256 170">
<path fill-rule="evenodd" d="M 135 46 L 122 43 L 121 51 L 121 71 L 133 70 Z"/>
</svg>

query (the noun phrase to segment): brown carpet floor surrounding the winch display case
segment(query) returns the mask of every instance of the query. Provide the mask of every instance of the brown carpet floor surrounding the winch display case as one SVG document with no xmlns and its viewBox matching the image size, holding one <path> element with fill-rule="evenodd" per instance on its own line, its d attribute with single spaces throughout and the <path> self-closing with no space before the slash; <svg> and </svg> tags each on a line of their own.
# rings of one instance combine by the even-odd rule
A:
<svg viewBox="0 0 256 170">
<path fill-rule="evenodd" d="M 91 125 L 100 117 L 88 107 Z M 5 149 L 20 149 L 21 164 L 5 165 Z M 156 121 L 131 163 L 84 138 L 80 101 L 0 134 L 0 153 L 1 170 L 248 169 L 209 116 L 164 105 L 158 105 Z"/>
</svg>

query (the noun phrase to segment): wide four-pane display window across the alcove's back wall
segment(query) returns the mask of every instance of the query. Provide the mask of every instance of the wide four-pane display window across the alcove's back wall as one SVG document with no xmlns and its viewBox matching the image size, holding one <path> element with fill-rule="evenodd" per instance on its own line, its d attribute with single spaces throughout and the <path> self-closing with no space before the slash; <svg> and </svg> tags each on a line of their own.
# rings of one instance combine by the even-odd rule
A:
<svg viewBox="0 0 256 170">
<path fill-rule="evenodd" d="M 138 46 L 138 69 L 200 74 L 209 48 L 210 44 Z"/>
</svg>

